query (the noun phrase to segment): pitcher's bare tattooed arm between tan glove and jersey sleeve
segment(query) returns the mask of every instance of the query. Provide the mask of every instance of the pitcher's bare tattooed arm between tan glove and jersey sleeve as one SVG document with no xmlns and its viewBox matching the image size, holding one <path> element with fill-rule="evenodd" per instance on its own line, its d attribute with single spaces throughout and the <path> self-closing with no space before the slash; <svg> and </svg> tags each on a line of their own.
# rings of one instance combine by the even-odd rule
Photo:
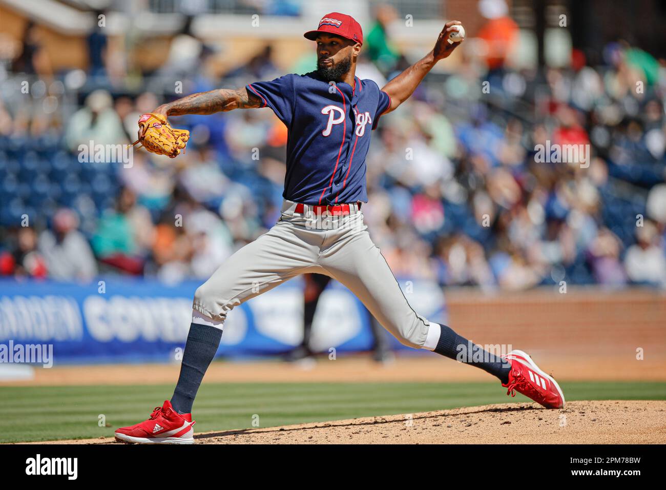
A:
<svg viewBox="0 0 666 490">
<path fill-rule="evenodd" d="M 261 101 L 256 95 L 248 94 L 242 89 L 219 89 L 210 92 L 193 93 L 165 105 L 168 115 L 182 114 L 213 114 L 216 112 L 232 111 L 234 109 L 254 109 L 261 107 Z"/>
</svg>

